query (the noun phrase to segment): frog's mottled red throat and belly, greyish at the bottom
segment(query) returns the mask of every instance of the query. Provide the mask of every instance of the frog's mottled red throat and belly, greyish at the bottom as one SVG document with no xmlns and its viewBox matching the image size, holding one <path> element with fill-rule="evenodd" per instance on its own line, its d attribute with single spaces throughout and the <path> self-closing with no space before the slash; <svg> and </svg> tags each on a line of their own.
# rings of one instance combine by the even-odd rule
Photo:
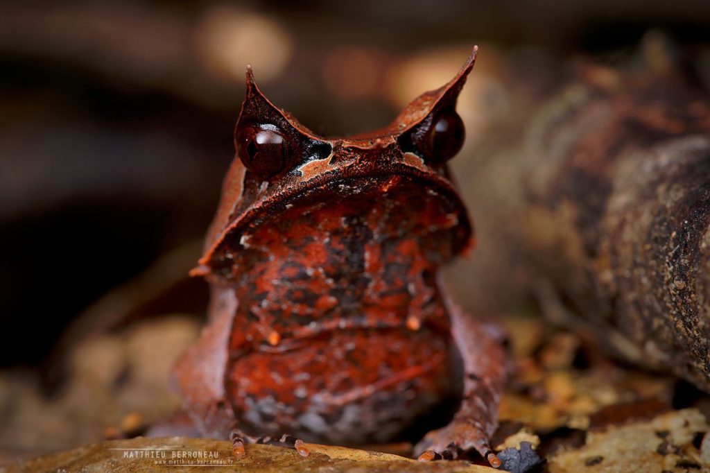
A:
<svg viewBox="0 0 710 473">
<path fill-rule="evenodd" d="M 251 271 L 236 285 L 244 322 L 229 351 L 244 354 L 229 361 L 226 394 L 246 431 L 386 440 L 455 384 L 439 249 L 416 234 L 435 222 L 438 202 L 407 178 L 367 185 L 341 202 L 328 192 L 294 205 L 236 259 Z"/>
</svg>

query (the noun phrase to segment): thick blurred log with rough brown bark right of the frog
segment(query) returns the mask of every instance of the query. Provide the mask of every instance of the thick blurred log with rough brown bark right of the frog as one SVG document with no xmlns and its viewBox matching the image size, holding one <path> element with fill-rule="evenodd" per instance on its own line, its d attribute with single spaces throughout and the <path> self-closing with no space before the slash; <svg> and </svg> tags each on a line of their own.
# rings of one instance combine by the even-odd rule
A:
<svg viewBox="0 0 710 473">
<path fill-rule="evenodd" d="M 469 305 L 501 310 L 527 291 L 710 391 L 708 97 L 658 71 L 582 76 L 464 164 L 482 254 Z"/>
</svg>

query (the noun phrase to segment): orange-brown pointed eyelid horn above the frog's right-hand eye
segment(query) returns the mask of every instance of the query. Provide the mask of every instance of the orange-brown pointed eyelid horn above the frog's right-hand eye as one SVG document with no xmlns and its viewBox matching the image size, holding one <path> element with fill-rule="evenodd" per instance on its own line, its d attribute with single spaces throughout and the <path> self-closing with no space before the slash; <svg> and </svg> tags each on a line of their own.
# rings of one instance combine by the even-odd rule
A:
<svg viewBox="0 0 710 473">
<path fill-rule="evenodd" d="M 398 134 L 404 135 L 416 126 L 422 124 L 423 121 L 432 119 L 432 116 L 443 109 L 454 111 L 456 109 L 456 101 L 459 98 L 461 89 L 464 88 L 466 77 L 474 67 L 476 56 L 478 55 L 479 47 L 474 46 L 471 50 L 471 55 L 454 76 L 443 87 L 436 90 L 424 92 L 419 97 L 414 99 L 395 119 L 391 125 L 391 129 L 398 131 Z"/>
</svg>

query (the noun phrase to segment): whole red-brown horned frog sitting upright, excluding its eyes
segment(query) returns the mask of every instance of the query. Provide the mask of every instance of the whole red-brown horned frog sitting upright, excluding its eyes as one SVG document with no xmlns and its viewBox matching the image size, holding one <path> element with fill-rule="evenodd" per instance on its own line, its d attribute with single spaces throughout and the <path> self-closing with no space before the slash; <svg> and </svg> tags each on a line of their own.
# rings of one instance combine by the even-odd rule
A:
<svg viewBox="0 0 710 473">
<path fill-rule="evenodd" d="M 300 161 L 265 180 L 237 156 L 225 179 L 194 271 L 212 284 L 209 323 L 176 369 L 204 435 L 229 435 L 240 454 L 242 441 L 282 433 L 381 442 L 454 394 L 458 413 L 419 450 L 476 448 L 496 464 L 501 337 L 437 281 L 471 246 L 471 225 L 446 165 L 410 146 L 454 109 L 474 60 L 388 128 L 343 139 L 276 109 L 248 70 L 236 129 L 274 124 L 300 143 Z"/>
</svg>

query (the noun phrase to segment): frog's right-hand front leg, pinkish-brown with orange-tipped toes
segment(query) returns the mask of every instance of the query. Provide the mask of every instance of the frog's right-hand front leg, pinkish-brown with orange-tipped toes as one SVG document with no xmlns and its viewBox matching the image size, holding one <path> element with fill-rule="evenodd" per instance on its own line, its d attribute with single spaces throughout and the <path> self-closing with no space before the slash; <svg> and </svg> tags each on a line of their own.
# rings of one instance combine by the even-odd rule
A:
<svg viewBox="0 0 710 473">
<path fill-rule="evenodd" d="M 459 411 L 443 428 L 432 430 L 415 447 L 419 460 L 437 455 L 456 457 L 458 450 L 476 449 L 492 467 L 501 466 L 490 445 L 498 428 L 498 403 L 506 382 L 503 331 L 465 314 L 447 301 L 452 336 L 464 367 L 464 391 Z"/>
</svg>

